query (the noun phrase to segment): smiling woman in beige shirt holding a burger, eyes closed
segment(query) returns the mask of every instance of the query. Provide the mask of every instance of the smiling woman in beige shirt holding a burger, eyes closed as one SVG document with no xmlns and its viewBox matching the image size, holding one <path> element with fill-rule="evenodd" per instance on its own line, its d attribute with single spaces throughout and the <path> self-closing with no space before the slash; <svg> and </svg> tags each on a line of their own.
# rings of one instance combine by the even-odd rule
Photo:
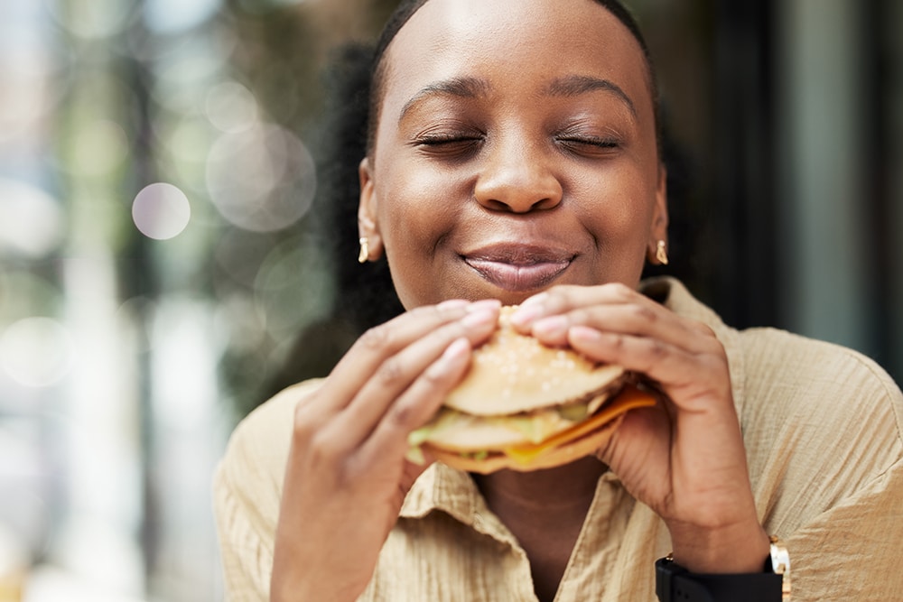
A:
<svg viewBox="0 0 903 602">
<path fill-rule="evenodd" d="M 232 599 L 654 600 L 670 551 L 663 583 L 685 571 L 720 592 L 699 599 L 740 600 L 774 577 L 769 535 L 796 600 L 903 598 L 896 385 L 852 351 L 738 332 L 679 282 L 640 282 L 667 261 L 666 174 L 628 14 L 405 3 L 375 64 L 361 259 L 385 256 L 406 312 L 237 429 L 217 480 Z M 501 303 L 663 399 L 561 468 L 407 461 Z"/>
</svg>

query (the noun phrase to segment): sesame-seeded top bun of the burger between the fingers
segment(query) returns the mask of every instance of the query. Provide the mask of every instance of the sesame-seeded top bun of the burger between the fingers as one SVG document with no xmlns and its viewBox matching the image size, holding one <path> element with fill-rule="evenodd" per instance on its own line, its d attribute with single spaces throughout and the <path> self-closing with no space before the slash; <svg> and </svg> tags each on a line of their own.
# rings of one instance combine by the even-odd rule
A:
<svg viewBox="0 0 903 602">
<path fill-rule="evenodd" d="M 445 400 L 476 416 L 530 412 L 582 400 L 619 384 L 624 368 L 598 364 L 570 348 L 547 347 L 511 326 L 517 306 L 501 309 L 498 329 L 473 351 L 468 373 Z"/>
</svg>

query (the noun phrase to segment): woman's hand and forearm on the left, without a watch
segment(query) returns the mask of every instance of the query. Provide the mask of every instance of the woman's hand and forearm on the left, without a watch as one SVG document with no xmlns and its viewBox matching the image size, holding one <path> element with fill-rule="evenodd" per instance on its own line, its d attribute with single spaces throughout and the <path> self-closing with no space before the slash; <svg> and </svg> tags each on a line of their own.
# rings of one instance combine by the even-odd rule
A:
<svg viewBox="0 0 903 602">
<path fill-rule="evenodd" d="M 408 434 L 433 417 L 498 301 L 445 301 L 368 330 L 294 416 L 270 599 L 354 600 L 426 468 Z"/>
</svg>

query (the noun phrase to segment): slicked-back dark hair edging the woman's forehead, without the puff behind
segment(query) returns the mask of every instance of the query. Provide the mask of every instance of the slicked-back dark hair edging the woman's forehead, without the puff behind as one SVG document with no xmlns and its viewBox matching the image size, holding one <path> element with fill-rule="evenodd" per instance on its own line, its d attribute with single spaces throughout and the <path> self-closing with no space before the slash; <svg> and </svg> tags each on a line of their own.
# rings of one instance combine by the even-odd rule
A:
<svg viewBox="0 0 903 602">
<path fill-rule="evenodd" d="M 656 138 L 660 147 L 661 135 L 659 132 L 659 123 L 661 119 L 659 118 L 658 86 L 656 84 L 655 69 L 652 65 L 652 56 L 649 53 L 649 47 L 647 46 L 646 39 L 643 37 L 643 32 L 640 32 L 639 25 L 633 14 L 631 14 L 628 8 L 622 5 L 619 0 L 592 1 L 598 5 L 604 6 L 606 10 L 608 10 L 621 23 L 623 23 L 624 26 L 628 28 L 628 31 L 633 35 L 634 39 L 638 42 L 640 49 L 643 51 L 643 56 L 646 59 L 647 78 L 649 89 L 652 93 L 652 104 L 654 109 L 654 116 L 656 119 Z M 383 79 L 386 75 L 386 61 L 383 60 L 386 54 L 386 49 L 389 47 L 389 44 L 392 43 L 393 40 L 395 40 L 396 35 L 401 31 L 401 28 L 405 26 L 405 23 L 407 23 L 408 20 L 410 20 L 410 18 L 414 16 L 414 13 L 420 10 L 420 8 L 427 2 L 429 2 L 429 0 L 402 0 L 401 4 L 399 4 L 396 10 L 389 16 L 388 21 L 386 22 L 386 26 L 383 28 L 383 32 L 380 34 L 377 45 L 373 51 L 373 59 L 370 67 L 371 79 L 368 105 L 368 153 L 373 150 L 373 145 L 376 142 L 377 118 L 379 116 L 380 102 L 382 100 L 382 84 Z"/>
</svg>

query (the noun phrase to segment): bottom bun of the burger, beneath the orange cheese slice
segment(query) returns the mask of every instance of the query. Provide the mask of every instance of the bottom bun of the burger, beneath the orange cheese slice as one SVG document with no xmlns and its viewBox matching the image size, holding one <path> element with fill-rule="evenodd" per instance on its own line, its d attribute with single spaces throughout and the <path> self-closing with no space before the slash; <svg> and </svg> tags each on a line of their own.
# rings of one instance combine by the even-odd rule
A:
<svg viewBox="0 0 903 602">
<path fill-rule="evenodd" d="M 512 458 L 501 452 L 490 453 L 486 458 L 472 458 L 470 456 L 461 456 L 460 453 L 446 449 L 435 448 L 428 444 L 424 445 L 424 450 L 427 450 L 429 455 L 442 462 L 442 464 L 465 472 L 488 475 L 490 472 L 496 472 L 505 468 L 529 472 L 563 466 L 580 458 L 594 456 L 602 446 L 609 442 L 622 420 L 624 420 L 623 413 L 606 422 L 596 431 L 591 431 L 578 439 L 570 440 L 553 449 L 548 449 L 528 461 Z"/>
</svg>

